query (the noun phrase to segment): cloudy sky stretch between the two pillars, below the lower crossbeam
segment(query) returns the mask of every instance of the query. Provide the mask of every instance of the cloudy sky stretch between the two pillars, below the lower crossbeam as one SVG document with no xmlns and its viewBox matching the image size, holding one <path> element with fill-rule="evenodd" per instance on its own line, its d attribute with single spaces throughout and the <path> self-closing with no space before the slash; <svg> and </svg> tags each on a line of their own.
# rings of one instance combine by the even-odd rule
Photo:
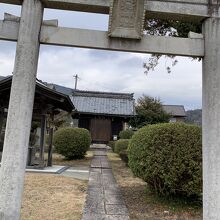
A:
<svg viewBox="0 0 220 220">
<path fill-rule="evenodd" d="M 73 75 L 78 74 L 79 89 L 135 93 L 160 97 L 167 104 L 201 107 L 201 63 L 178 57 L 179 63 L 166 71 L 162 58 L 154 72 L 147 76 L 142 67 L 145 57 L 124 52 L 89 49 L 42 48 L 38 76 L 49 82 L 73 87 Z"/>
</svg>

